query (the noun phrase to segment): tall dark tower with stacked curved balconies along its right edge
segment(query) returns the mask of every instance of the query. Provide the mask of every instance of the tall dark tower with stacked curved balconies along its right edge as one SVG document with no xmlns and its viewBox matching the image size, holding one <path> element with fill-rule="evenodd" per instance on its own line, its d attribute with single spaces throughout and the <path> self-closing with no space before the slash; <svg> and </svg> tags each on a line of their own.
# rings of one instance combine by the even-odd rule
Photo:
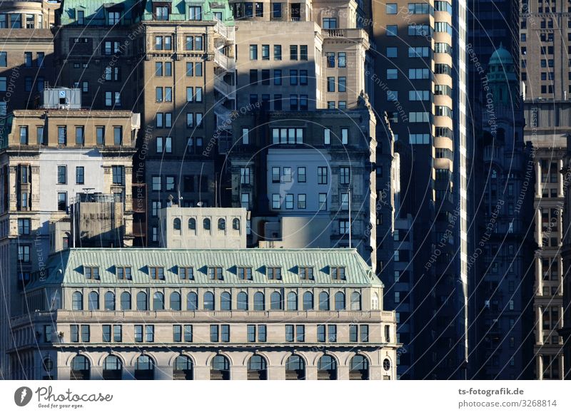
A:
<svg viewBox="0 0 571 415">
<path fill-rule="evenodd" d="M 413 217 L 420 379 L 463 378 L 469 354 L 466 9 L 465 1 L 373 2 L 369 26 L 373 107 L 388 113 L 401 156 L 399 215 Z"/>
</svg>

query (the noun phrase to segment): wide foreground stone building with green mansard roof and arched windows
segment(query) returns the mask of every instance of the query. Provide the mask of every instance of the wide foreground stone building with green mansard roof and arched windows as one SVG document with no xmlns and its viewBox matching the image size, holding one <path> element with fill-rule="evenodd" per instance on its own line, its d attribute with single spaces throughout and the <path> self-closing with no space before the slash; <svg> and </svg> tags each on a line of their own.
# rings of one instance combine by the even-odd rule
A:
<svg viewBox="0 0 571 415">
<path fill-rule="evenodd" d="M 396 376 L 395 313 L 355 250 L 71 249 L 46 272 L 11 319 L 11 379 Z"/>
</svg>

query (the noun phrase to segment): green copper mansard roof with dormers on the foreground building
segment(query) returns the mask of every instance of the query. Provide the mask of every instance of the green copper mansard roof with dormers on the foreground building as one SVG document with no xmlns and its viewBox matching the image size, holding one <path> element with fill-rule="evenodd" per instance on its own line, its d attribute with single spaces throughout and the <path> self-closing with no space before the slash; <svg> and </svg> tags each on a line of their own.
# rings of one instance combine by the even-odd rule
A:
<svg viewBox="0 0 571 415">
<path fill-rule="evenodd" d="M 86 280 L 84 267 L 98 267 L 100 280 Z M 132 280 L 117 280 L 117 266 L 131 267 Z M 178 267 L 193 267 L 194 280 L 185 285 L 351 285 L 382 286 L 370 266 L 355 249 L 243 249 L 171 250 L 151 248 L 76 248 L 52 255 L 44 282 L 35 280 L 29 289 L 43 284 L 63 285 L 180 285 Z M 268 281 L 266 267 L 281 267 L 281 281 Z M 164 280 L 151 280 L 148 267 L 163 267 Z M 223 280 L 208 279 L 208 267 L 222 267 Z M 240 280 L 237 267 L 251 267 L 253 279 Z M 314 280 L 300 280 L 299 267 L 313 267 Z M 333 281 L 330 267 L 345 267 L 344 281 Z M 61 272 L 59 271 L 61 270 Z"/>
</svg>

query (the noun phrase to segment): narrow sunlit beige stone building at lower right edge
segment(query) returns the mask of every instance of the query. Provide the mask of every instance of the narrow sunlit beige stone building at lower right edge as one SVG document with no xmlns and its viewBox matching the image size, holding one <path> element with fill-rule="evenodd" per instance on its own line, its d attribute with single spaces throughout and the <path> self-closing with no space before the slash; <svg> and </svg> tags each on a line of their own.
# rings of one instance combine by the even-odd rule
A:
<svg viewBox="0 0 571 415">
<path fill-rule="evenodd" d="M 570 123 L 565 102 L 525 102 L 525 137 L 534 147 L 535 167 L 535 379 L 563 379 L 564 276 L 562 240 L 568 224 L 562 220 L 566 182 L 561 174 Z M 555 117 L 555 112 L 560 113 Z"/>
</svg>

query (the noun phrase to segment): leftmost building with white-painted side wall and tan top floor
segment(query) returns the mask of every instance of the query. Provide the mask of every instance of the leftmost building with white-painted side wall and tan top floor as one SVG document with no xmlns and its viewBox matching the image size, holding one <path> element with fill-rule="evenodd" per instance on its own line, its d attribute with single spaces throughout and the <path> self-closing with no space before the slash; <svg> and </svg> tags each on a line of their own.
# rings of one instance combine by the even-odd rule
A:
<svg viewBox="0 0 571 415">
<path fill-rule="evenodd" d="M 79 91 L 54 91 L 44 91 L 45 105 L 56 106 L 49 101 L 55 96 L 64 100 L 60 108 L 16 110 L 2 125 L 0 265 L 8 304 L 1 314 L 3 373 L 4 351 L 11 342 L 7 319 L 22 312 L 21 290 L 33 272 L 45 267 L 50 252 L 73 245 L 74 238 L 81 243 L 71 232 L 70 215 L 79 195 L 108 195 L 120 206 L 123 243 L 132 239 L 131 168 L 138 117 L 131 111 L 83 111 L 81 103 L 68 108 Z"/>
</svg>

